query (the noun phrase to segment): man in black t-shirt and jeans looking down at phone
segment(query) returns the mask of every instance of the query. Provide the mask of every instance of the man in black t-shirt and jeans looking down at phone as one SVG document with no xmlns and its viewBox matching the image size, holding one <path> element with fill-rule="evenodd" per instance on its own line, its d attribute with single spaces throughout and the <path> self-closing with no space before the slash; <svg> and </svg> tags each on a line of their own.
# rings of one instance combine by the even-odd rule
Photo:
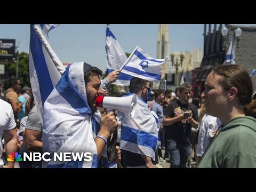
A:
<svg viewBox="0 0 256 192">
<path fill-rule="evenodd" d="M 171 168 L 186 168 L 191 150 L 191 127 L 197 129 L 199 124 L 197 108 L 189 103 L 191 86 L 184 83 L 179 91 L 179 100 L 171 102 L 164 117 Z"/>
</svg>

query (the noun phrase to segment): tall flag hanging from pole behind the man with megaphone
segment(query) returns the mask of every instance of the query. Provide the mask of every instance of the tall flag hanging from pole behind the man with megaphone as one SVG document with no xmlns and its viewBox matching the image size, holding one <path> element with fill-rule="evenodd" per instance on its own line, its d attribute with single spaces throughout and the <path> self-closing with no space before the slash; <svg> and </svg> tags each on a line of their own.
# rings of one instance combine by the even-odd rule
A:
<svg viewBox="0 0 256 192">
<path fill-rule="evenodd" d="M 30 25 L 29 77 L 41 120 L 44 102 L 65 70 L 39 25 Z"/>
</svg>

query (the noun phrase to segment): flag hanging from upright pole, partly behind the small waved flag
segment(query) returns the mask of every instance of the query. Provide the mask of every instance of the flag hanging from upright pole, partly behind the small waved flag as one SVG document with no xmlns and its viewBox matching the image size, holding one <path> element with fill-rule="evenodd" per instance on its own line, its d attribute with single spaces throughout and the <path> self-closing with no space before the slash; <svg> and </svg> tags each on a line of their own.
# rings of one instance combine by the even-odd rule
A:
<svg viewBox="0 0 256 192">
<path fill-rule="evenodd" d="M 107 74 L 120 69 L 127 60 L 126 54 L 117 42 L 116 37 L 107 26 L 106 34 L 106 52 L 107 52 Z M 119 72 L 116 82 L 112 84 L 129 86 L 133 76 Z"/>
</svg>

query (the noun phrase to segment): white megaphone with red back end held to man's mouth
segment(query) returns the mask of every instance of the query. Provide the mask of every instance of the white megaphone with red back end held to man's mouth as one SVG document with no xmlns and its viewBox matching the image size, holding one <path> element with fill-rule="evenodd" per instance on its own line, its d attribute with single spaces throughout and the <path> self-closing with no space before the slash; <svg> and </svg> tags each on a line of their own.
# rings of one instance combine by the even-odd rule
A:
<svg viewBox="0 0 256 192">
<path fill-rule="evenodd" d="M 135 94 L 121 98 L 105 97 L 105 95 L 100 95 L 96 97 L 95 103 L 97 107 L 106 108 L 108 111 L 118 110 L 133 118 L 136 109 L 137 97 Z"/>
</svg>

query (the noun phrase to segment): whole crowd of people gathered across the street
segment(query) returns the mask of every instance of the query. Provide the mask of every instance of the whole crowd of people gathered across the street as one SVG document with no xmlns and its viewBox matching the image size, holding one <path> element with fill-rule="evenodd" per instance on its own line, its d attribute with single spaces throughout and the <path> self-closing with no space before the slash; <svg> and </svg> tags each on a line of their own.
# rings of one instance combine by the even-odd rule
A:
<svg viewBox="0 0 256 192">
<path fill-rule="evenodd" d="M 245 69 L 214 68 L 201 98 L 188 83 L 175 91 L 152 90 L 149 81 L 134 77 L 129 93 L 122 95 L 136 95 L 133 117 L 95 105 L 118 75 L 115 70 L 101 80 L 100 69 L 74 63 L 44 103 L 43 119 L 30 87 L 21 89 L 20 79 L 10 77 L 4 94 L 1 86 L 0 166 L 151 168 L 170 162 L 171 168 L 185 168 L 193 148 L 196 167 L 256 167 L 256 94 Z M 13 152 L 84 150 L 92 161 L 7 161 Z M 115 154 L 111 162 L 110 152 Z"/>
</svg>

